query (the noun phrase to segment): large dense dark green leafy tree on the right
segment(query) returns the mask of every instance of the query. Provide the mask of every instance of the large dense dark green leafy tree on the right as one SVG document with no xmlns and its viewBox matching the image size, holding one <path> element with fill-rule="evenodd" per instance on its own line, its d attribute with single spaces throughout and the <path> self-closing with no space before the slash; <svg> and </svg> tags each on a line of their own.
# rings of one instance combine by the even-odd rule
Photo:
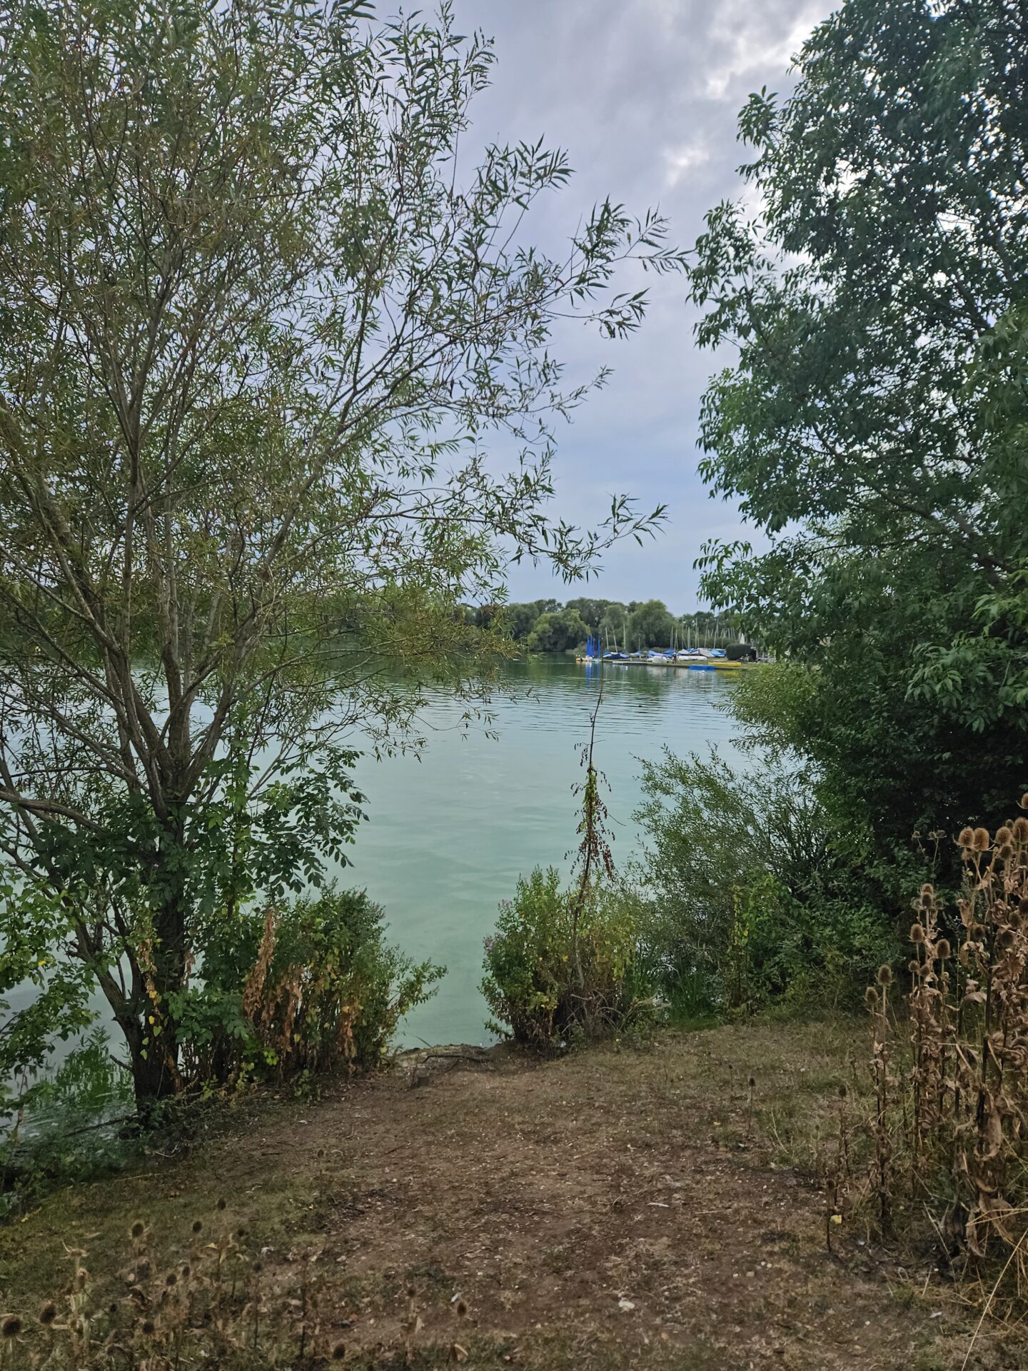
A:
<svg viewBox="0 0 1028 1371">
<path fill-rule="evenodd" d="M 742 114 L 761 215 L 714 208 L 691 267 L 737 350 L 702 470 L 772 539 L 703 591 L 816 668 L 794 736 L 888 847 L 1028 772 L 1027 41 L 1010 0 L 847 0 Z"/>
</svg>

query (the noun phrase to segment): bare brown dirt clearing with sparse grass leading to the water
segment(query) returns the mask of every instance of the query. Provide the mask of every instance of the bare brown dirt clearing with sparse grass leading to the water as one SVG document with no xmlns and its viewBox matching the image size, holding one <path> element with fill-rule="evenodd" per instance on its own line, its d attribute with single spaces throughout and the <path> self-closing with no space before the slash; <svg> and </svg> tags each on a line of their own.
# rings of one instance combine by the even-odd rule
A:
<svg viewBox="0 0 1028 1371">
<path fill-rule="evenodd" d="M 748 1024 L 543 1064 L 407 1061 L 55 1196 L 0 1234 L 3 1298 L 45 1297 L 67 1245 L 99 1268 L 137 1213 L 173 1241 L 223 1198 L 267 1297 L 313 1274 L 321 1345 L 356 1366 L 955 1371 L 973 1308 L 927 1260 L 829 1227 L 791 1165 L 861 1047 L 853 1027 Z M 968 1368 L 1028 1366 L 1002 1334 L 986 1326 Z"/>
</svg>

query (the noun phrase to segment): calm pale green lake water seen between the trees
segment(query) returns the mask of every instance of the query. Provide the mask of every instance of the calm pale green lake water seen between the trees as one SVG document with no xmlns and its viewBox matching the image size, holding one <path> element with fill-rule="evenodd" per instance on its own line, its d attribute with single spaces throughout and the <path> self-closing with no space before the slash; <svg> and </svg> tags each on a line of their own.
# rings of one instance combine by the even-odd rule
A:
<svg viewBox="0 0 1028 1371">
<path fill-rule="evenodd" d="M 463 706 L 440 695 L 424 714 L 419 761 L 359 764 L 370 821 L 340 880 L 366 887 L 385 908 L 393 942 L 447 967 L 433 999 L 402 1026 L 407 1046 L 488 1041 L 478 982 L 496 906 L 536 864 L 566 869 L 577 843 L 573 787 L 599 673 L 566 658 L 535 658 L 506 664 L 503 677 L 517 698 L 492 701 L 498 738 L 465 731 Z M 729 754 L 732 720 L 717 706 L 732 688 L 726 673 L 604 668 L 595 761 L 610 784 L 615 864 L 639 847 L 632 813 L 641 798 L 640 758 L 655 760 L 665 746 L 706 753 L 711 743 Z"/>
</svg>

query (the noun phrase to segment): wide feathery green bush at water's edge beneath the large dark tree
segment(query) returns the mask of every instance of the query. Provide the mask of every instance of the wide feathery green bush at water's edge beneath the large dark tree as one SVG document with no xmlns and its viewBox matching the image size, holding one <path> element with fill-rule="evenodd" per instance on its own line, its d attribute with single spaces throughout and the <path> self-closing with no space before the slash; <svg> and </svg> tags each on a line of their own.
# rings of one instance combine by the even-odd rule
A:
<svg viewBox="0 0 1028 1371">
<path fill-rule="evenodd" d="M 809 776 L 713 754 L 644 765 L 631 872 L 647 958 L 678 1009 L 853 1006 L 895 954 L 899 879 L 832 823 Z"/>
</svg>

